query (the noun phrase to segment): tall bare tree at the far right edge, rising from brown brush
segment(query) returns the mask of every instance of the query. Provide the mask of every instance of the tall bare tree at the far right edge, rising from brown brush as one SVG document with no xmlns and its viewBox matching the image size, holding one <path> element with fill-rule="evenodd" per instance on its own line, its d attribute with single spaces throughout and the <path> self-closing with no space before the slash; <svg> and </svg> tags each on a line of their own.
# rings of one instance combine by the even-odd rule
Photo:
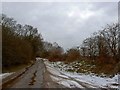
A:
<svg viewBox="0 0 120 90">
<path fill-rule="evenodd" d="M 106 44 L 110 50 L 109 55 L 113 57 L 114 60 L 118 60 L 118 37 L 119 37 L 119 30 L 118 30 L 118 24 L 108 25 L 107 28 L 105 28 L 101 32 L 101 36 L 106 41 Z"/>
</svg>

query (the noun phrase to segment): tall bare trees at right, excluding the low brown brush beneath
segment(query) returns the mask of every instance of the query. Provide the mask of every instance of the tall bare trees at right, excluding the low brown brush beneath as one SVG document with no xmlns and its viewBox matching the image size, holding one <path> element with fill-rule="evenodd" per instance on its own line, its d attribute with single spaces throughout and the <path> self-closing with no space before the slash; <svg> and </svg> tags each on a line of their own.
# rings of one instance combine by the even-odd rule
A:
<svg viewBox="0 0 120 90">
<path fill-rule="evenodd" d="M 80 47 L 80 53 L 91 60 L 118 63 L 120 61 L 119 24 L 107 25 L 103 30 L 85 39 Z"/>
</svg>

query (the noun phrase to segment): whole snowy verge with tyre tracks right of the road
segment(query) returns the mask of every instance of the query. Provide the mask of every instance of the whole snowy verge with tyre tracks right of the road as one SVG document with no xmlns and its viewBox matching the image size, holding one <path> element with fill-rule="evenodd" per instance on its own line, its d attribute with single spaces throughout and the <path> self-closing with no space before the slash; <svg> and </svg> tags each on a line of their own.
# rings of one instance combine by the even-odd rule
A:
<svg viewBox="0 0 120 90">
<path fill-rule="evenodd" d="M 118 76 L 112 78 L 100 77 L 94 74 L 66 72 L 66 64 L 63 62 L 49 62 L 45 60 L 46 67 L 51 73 L 51 78 L 59 84 L 69 88 L 118 88 Z"/>
</svg>

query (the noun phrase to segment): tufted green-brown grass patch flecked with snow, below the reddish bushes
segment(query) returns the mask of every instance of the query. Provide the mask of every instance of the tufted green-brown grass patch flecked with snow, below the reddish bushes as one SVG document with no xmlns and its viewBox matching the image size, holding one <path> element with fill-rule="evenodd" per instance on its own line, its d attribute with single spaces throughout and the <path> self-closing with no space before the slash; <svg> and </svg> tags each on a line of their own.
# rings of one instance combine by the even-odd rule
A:
<svg viewBox="0 0 120 90">
<path fill-rule="evenodd" d="M 68 71 L 68 72 L 83 72 L 83 73 L 90 73 L 91 69 L 95 67 L 95 65 L 89 65 L 84 61 L 74 61 L 71 63 L 64 63 L 64 62 L 50 62 L 54 67 L 59 69 L 60 71 Z"/>
</svg>

